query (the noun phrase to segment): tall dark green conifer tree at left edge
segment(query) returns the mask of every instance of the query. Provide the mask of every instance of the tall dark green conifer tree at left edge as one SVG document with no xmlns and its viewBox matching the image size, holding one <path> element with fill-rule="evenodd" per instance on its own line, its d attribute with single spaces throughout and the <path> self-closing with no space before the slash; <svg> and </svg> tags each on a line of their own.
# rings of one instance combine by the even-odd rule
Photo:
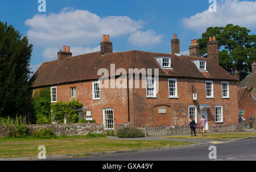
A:
<svg viewBox="0 0 256 172">
<path fill-rule="evenodd" d="M 31 53 L 27 37 L 0 21 L 0 117 L 15 117 L 27 110 Z"/>
</svg>

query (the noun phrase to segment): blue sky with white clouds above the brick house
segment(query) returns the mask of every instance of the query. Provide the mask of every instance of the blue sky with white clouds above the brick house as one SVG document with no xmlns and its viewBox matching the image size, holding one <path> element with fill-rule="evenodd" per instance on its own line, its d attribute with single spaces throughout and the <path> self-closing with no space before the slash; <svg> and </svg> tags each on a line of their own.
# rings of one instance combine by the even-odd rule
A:
<svg viewBox="0 0 256 172">
<path fill-rule="evenodd" d="M 57 59 L 63 45 L 73 55 L 100 51 L 110 35 L 113 51 L 171 52 L 174 34 L 180 54 L 208 27 L 232 23 L 256 33 L 256 2 L 239 0 L 0 0 L 0 21 L 14 25 L 33 44 L 31 71 Z"/>
</svg>

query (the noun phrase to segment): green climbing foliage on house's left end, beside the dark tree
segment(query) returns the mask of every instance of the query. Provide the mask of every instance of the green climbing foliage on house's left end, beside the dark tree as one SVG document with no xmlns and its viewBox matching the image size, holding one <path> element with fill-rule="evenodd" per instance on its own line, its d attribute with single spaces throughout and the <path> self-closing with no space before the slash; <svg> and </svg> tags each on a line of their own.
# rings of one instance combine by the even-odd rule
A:
<svg viewBox="0 0 256 172">
<path fill-rule="evenodd" d="M 51 91 L 46 88 L 32 101 L 32 110 L 36 118 L 36 124 L 51 123 Z"/>
</svg>

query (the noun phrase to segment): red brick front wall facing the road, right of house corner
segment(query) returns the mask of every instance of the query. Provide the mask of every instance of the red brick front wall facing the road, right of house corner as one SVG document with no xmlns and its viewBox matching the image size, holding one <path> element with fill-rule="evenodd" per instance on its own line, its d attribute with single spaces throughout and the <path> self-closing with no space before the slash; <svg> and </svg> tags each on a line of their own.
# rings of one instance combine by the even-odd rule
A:
<svg viewBox="0 0 256 172">
<path fill-rule="evenodd" d="M 197 122 L 200 117 L 200 104 L 212 106 L 208 110 L 209 124 L 215 123 L 215 106 L 223 106 L 224 123 L 238 123 L 237 84 L 229 81 L 228 99 L 222 98 L 221 81 L 213 81 L 214 98 L 206 98 L 205 80 L 177 78 L 177 94 L 179 98 L 169 98 L 168 78 L 159 78 L 159 92 L 157 98 L 146 98 L 146 89 L 134 89 L 134 124 L 135 126 L 187 125 L 188 106 L 197 106 Z M 197 93 L 197 101 L 192 98 L 193 91 Z M 159 115 L 155 113 L 155 106 L 170 106 L 171 114 Z M 168 109 L 168 108 L 167 108 Z"/>
</svg>

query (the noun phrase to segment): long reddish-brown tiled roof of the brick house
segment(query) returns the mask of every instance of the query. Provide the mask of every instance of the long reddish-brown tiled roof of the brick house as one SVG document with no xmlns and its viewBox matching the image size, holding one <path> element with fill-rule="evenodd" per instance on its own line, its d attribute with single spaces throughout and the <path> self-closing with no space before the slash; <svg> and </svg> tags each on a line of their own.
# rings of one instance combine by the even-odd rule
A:
<svg viewBox="0 0 256 172">
<path fill-rule="evenodd" d="M 155 57 L 171 57 L 172 69 L 162 69 Z M 192 60 L 207 61 L 208 72 L 199 71 Z M 115 70 L 125 68 L 127 72 L 129 68 L 159 68 L 160 76 L 237 80 L 236 77 L 218 66 L 214 59 L 132 50 L 105 55 L 101 55 L 100 52 L 89 53 L 65 58 L 61 63 L 59 60 L 43 63 L 32 76 L 30 87 L 95 80 L 101 77 L 97 75 L 100 68 L 106 68 L 110 73 L 111 64 L 115 64 Z"/>
</svg>

